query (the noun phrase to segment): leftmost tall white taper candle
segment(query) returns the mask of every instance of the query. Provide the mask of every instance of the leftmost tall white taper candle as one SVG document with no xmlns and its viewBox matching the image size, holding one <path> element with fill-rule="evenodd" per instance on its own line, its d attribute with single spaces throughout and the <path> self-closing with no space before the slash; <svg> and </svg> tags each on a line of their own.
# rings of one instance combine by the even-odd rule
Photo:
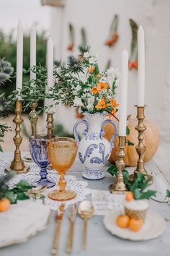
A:
<svg viewBox="0 0 170 256">
<path fill-rule="evenodd" d="M 16 90 L 22 90 L 22 67 L 23 67 L 23 27 L 21 20 L 17 26 L 17 79 Z M 19 97 L 19 99 L 21 99 Z"/>
</svg>

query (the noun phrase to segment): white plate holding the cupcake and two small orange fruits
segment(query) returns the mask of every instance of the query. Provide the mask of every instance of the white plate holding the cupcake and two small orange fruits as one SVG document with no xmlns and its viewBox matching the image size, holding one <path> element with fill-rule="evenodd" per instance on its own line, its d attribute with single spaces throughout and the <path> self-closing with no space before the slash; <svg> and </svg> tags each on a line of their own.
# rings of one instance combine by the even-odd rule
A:
<svg viewBox="0 0 170 256">
<path fill-rule="evenodd" d="M 166 221 L 157 213 L 148 210 L 146 221 L 143 224 L 142 229 L 138 232 L 130 231 L 130 229 L 121 229 L 116 225 L 116 218 L 120 215 L 120 212 L 109 212 L 104 216 L 105 228 L 115 236 L 119 236 L 122 239 L 129 239 L 133 241 L 144 241 L 153 239 L 160 236 L 166 229 Z"/>
</svg>

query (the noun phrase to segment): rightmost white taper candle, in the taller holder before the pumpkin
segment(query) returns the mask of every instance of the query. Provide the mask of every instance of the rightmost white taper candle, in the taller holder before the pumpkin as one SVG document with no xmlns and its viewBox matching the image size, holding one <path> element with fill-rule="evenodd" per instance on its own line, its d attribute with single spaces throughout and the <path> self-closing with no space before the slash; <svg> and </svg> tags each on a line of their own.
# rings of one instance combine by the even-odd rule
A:
<svg viewBox="0 0 170 256">
<path fill-rule="evenodd" d="M 138 30 L 138 106 L 144 106 L 145 98 L 145 39 L 144 30 Z"/>
</svg>

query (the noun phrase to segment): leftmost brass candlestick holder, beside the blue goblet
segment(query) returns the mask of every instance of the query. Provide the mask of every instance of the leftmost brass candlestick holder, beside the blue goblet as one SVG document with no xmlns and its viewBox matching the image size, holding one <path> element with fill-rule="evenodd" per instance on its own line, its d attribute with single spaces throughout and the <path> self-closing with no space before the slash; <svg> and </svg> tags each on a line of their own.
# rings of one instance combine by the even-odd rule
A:
<svg viewBox="0 0 170 256">
<path fill-rule="evenodd" d="M 16 171 L 17 174 L 25 174 L 30 169 L 30 167 L 24 166 L 24 161 L 22 161 L 21 152 L 19 150 L 19 147 L 22 143 L 22 137 L 20 135 L 20 132 L 21 132 L 21 124 L 23 122 L 23 119 L 22 119 L 21 113 L 22 113 L 22 101 L 17 100 L 15 104 L 16 116 L 13 120 L 14 124 L 16 125 L 16 128 L 15 128 L 16 135 L 13 138 L 16 149 L 14 151 L 14 160 L 12 161 L 10 166 L 6 166 L 5 172 Z"/>
</svg>

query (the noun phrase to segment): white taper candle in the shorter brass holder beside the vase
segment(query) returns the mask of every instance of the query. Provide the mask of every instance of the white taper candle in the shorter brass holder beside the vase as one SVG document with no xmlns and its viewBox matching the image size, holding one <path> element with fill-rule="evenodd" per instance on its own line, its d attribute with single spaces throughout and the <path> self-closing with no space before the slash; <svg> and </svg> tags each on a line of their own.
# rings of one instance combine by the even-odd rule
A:
<svg viewBox="0 0 170 256">
<path fill-rule="evenodd" d="M 122 51 L 121 86 L 120 86 L 120 125 L 119 136 L 126 136 L 128 94 L 128 51 Z"/>
</svg>

